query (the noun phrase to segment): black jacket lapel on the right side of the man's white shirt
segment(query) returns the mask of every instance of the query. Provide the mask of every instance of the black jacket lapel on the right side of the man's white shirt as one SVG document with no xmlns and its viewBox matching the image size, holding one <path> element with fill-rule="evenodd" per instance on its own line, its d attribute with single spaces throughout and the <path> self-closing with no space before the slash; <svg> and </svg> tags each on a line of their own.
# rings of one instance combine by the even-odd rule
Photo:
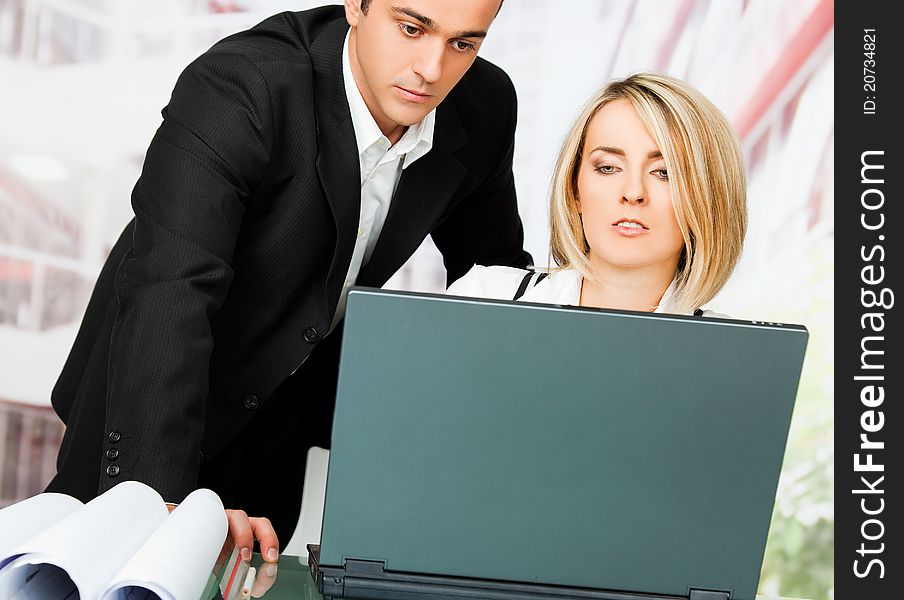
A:
<svg viewBox="0 0 904 600">
<path fill-rule="evenodd" d="M 433 148 L 402 172 L 359 285 L 386 283 L 430 233 L 468 172 L 453 154 L 466 141 L 458 112 L 447 98 L 436 111 Z"/>
</svg>

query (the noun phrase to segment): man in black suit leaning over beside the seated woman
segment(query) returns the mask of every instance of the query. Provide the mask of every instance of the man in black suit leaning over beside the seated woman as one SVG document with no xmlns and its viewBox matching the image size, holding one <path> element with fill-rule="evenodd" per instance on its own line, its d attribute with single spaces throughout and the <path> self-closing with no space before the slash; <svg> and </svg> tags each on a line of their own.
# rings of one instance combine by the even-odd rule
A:
<svg viewBox="0 0 904 600">
<path fill-rule="evenodd" d="M 294 530 L 307 449 L 329 446 L 348 286 L 382 285 L 428 234 L 449 281 L 530 262 L 514 91 L 476 59 L 500 3 L 284 13 L 185 70 L 53 392 L 49 490 L 210 487 L 245 511 L 240 547 L 253 527 L 275 558 L 246 513 Z"/>
</svg>

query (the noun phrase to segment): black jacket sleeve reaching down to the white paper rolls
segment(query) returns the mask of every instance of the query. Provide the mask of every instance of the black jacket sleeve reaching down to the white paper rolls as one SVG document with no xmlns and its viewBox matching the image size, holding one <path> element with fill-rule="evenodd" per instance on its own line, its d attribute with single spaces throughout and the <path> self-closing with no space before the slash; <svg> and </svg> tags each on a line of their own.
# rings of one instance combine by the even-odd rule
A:
<svg viewBox="0 0 904 600">
<path fill-rule="evenodd" d="M 208 52 L 180 76 L 132 194 L 119 264 L 99 492 L 142 481 L 169 502 L 197 485 L 211 319 L 221 306 L 245 202 L 272 145 L 266 81 L 239 54 Z M 113 452 L 115 462 L 109 462 Z"/>
</svg>

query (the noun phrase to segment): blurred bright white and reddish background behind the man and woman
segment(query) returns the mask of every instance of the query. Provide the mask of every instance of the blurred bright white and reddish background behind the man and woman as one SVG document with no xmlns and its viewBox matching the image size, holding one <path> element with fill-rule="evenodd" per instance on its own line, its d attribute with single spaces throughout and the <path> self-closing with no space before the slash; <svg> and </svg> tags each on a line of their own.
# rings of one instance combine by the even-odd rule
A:
<svg viewBox="0 0 904 600">
<path fill-rule="evenodd" d="M 177 76 L 216 40 L 323 3 L 0 0 L 0 507 L 54 472 L 50 390 Z M 834 597 L 833 29 L 831 0 L 509 0 L 481 50 L 518 90 L 515 176 L 538 265 L 559 142 L 608 79 L 680 77 L 737 128 L 750 229 L 710 306 L 810 330 L 760 593 L 813 600 Z M 428 240 L 387 287 L 444 281 Z"/>
</svg>

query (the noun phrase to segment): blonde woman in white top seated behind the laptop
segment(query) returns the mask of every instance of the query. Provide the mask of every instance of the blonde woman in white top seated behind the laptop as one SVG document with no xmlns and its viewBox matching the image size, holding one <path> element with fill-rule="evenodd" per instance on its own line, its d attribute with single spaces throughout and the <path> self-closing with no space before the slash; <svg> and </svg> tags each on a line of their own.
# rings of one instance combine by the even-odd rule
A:
<svg viewBox="0 0 904 600">
<path fill-rule="evenodd" d="M 664 75 L 613 81 L 590 101 L 550 196 L 548 277 L 475 266 L 448 293 L 706 314 L 747 228 L 736 134 L 702 94 Z"/>
</svg>

